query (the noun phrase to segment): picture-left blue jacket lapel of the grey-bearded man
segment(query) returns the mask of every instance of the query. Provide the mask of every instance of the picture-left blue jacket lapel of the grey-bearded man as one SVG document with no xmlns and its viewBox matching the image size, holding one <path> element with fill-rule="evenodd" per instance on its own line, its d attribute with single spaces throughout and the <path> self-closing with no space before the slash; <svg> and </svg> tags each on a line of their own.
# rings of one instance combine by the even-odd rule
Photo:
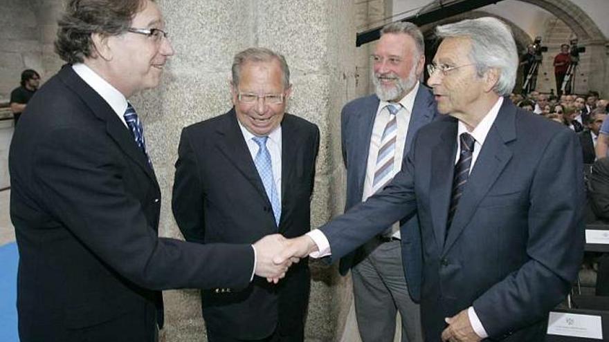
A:
<svg viewBox="0 0 609 342">
<path fill-rule="evenodd" d="M 364 182 L 366 178 L 366 169 L 368 167 L 368 155 L 370 154 L 370 140 L 372 139 L 372 129 L 374 128 L 374 119 L 376 111 L 379 109 L 379 98 L 376 95 L 368 97 L 367 101 L 357 112 L 357 129 L 354 134 L 354 146 L 351 151 L 354 153 L 354 164 L 349 165 L 356 175 L 357 193 L 360 197 L 364 192 Z"/>
</svg>

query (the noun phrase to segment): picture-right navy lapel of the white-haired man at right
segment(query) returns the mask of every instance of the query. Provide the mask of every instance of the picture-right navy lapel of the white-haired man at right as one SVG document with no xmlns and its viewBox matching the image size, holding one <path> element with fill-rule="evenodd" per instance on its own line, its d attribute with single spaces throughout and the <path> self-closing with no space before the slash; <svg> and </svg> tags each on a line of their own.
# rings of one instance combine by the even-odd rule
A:
<svg viewBox="0 0 609 342">
<path fill-rule="evenodd" d="M 478 204 L 487 195 L 491 186 L 505 169 L 512 157 L 506 143 L 516 139 L 516 108 L 504 100 L 491 130 L 487 135 L 478 159 L 469 175 L 469 180 L 459 200 L 451 229 L 448 231 L 444 252 L 448 251 L 478 209 Z"/>
</svg>

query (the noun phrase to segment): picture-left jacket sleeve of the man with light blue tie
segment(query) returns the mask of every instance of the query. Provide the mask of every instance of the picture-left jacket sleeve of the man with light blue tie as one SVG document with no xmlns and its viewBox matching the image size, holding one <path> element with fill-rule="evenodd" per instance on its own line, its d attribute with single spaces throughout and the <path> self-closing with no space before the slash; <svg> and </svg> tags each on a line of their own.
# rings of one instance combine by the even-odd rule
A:
<svg viewBox="0 0 609 342">
<path fill-rule="evenodd" d="M 197 158 L 190 144 L 188 130 L 183 129 L 176 161 L 172 210 L 184 238 L 193 243 L 204 243 L 204 194 L 198 171 Z"/>
</svg>

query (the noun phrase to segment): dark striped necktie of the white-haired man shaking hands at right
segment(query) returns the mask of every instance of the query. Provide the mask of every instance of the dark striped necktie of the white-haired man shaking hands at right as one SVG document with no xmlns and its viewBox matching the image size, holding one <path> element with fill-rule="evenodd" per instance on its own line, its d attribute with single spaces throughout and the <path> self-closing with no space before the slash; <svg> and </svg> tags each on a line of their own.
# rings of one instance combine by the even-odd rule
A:
<svg viewBox="0 0 609 342">
<path fill-rule="evenodd" d="M 469 178 L 469 167 L 471 166 L 471 158 L 473 156 L 473 144 L 474 138 L 468 133 L 461 133 L 459 136 L 459 142 L 461 145 L 461 153 L 459 155 L 459 161 L 455 165 L 455 175 L 453 177 L 453 192 L 451 195 L 451 209 L 448 210 L 448 220 L 446 221 L 446 234 L 448 234 L 448 228 L 451 227 L 455 211 L 457 211 L 457 205 L 459 199 L 467 184 Z"/>
</svg>

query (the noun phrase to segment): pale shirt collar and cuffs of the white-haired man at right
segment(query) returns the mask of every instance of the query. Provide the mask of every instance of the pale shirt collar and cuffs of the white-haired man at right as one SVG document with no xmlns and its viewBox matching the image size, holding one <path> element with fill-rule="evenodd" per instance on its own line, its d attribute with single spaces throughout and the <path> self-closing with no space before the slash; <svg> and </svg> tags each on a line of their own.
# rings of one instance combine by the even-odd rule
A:
<svg viewBox="0 0 609 342">
<path fill-rule="evenodd" d="M 469 134 L 471 134 L 471 136 L 475 140 L 474 149 L 473 149 L 473 153 L 472 153 L 472 159 L 471 159 L 471 166 L 469 168 L 469 171 L 471 173 L 471 171 L 474 168 L 476 160 L 478 160 L 478 155 L 480 154 L 480 151 L 482 150 L 482 145 L 484 145 L 484 140 L 487 139 L 487 135 L 489 134 L 489 131 L 491 131 L 491 127 L 493 126 L 493 123 L 495 122 L 495 119 L 497 118 L 499 109 L 501 108 L 502 104 L 503 104 L 503 97 L 499 97 L 499 99 L 497 100 L 497 102 L 495 102 L 495 104 L 493 105 L 493 107 L 491 108 L 489 113 L 487 113 L 487 115 L 485 115 L 484 118 L 482 118 L 480 123 L 478 123 L 478 126 L 476 126 L 475 129 L 473 129 L 473 131 L 471 131 L 471 132 L 467 131 L 467 127 L 462 122 L 459 121 L 457 123 L 457 137 L 455 137 L 457 140 L 457 153 L 455 154 L 455 164 L 457 164 L 457 161 L 459 160 L 459 155 L 461 153 L 461 146 L 459 144 L 459 136 L 461 135 L 461 133 L 468 132 Z M 313 229 L 312 231 L 309 231 L 309 233 L 307 233 L 307 235 L 313 240 L 313 242 L 318 247 L 318 251 L 314 251 L 313 253 L 311 253 L 309 255 L 309 256 L 311 256 L 311 258 L 322 258 L 324 256 L 329 256 L 331 254 L 328 239 L 322 233 L 322 231 L 320 231 L 319 229 Z M 475 333 L 478 334 L 478 336 L 480 336 L 482 339 L 487 338 L 489 335 L 487 334 L 486 330 L 484 330 L 484 326 L 482 326 L 480 319 L 478 319 L 478 314 L 475 313 L 475 310 L 473 309 L 473 307 L 469 307 L 467 313 L 469 316 L 469 321 L 471 322 L 471 325 L 472 325 Z"/>
</svg>

